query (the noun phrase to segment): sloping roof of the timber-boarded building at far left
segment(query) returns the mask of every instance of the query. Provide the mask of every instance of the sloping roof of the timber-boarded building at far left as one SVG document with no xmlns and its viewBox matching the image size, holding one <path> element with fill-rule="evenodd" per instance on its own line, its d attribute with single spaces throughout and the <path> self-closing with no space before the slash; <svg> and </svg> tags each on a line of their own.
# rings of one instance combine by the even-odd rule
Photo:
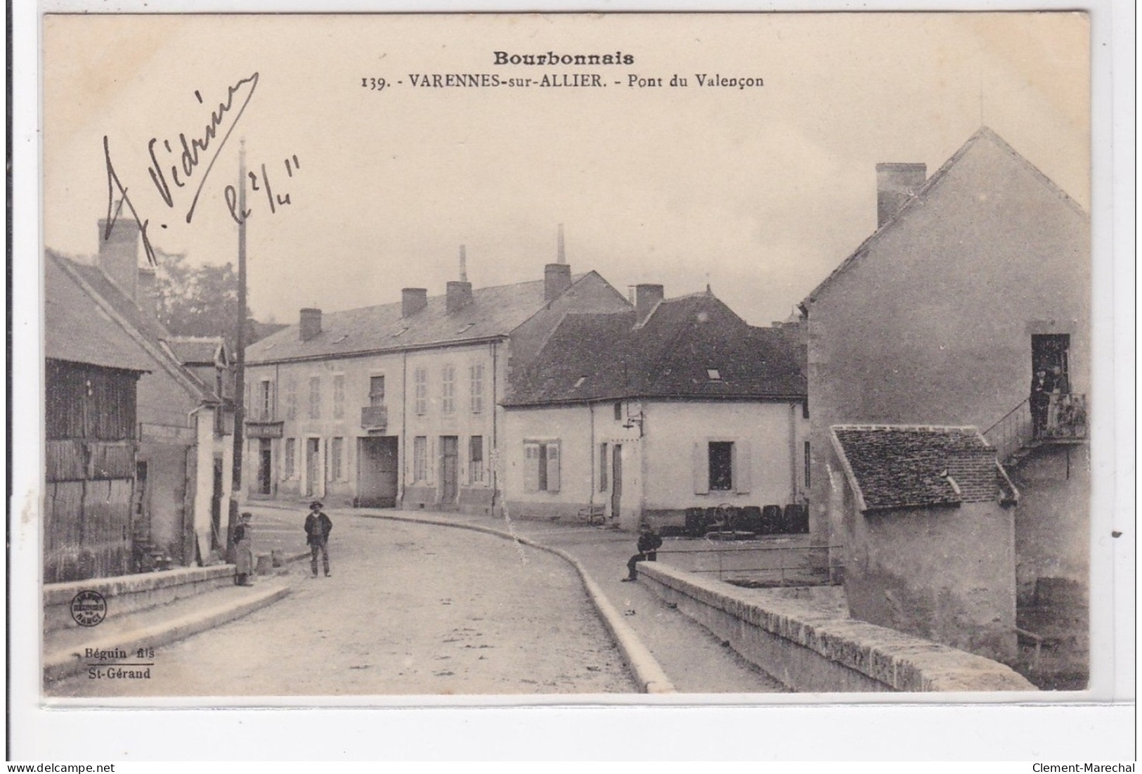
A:
<svg viewBox="0 0 1142 774">
<path fill-rule="evenodd" d="M 153 315 L 144 314 L 132 299 L 128 298 L 115 283 L 107 279 L 102 269 L 91 264 L 64 258 L 51 250 L 47 251 L 47 256 L 45 263 L 49 267 L 47 271 L 50 272 L 47 276 L 50 284 L 46 285 L 45 292 L 46 300 L 48 301 L 47 306 L 50 308 L 54 304 L 54 297 L 63 297 L 70 298 L 72 301 L 79 301 L 78 308 L 85 309 L 85 314 L 78 316 L 64 313 L 69 315 L 65 317 L 58 311 L 53 313 L 56 315 L 55 324 L 57 325 L 55 333 L 57 340 L 54 344 L 55 352 L 65 352 L 67 350 L 65 349 L 66 347 L 73 347 L 73 345 L 58 340 L 59 338 L 77 337 L 87 341 L 77 354 L 97 356 L 93 349 L 97 349 L 100 345 L 97 341 L 89 340 L 89 334 L 82 329 L 87 324 L 96 324 L 103 329 L 103 321 L 105 321 L 118 329 L 135 345 L 135 349 L 140 356 L 140 360 L 136 362 L 144 364 L 137 370 L 164 370 L 183 389 L 196 400 L 211 401 L 216 397 L 211 388 L 191 371 L 183 368 L 183 364 L 178 362 L 174 353 L 168 348 L 167 338 L 170 337 L 170 333 L 167 329 Z M 63 305 L 62 301 L 61 305 Z M 93 311 L 93 307 L 94 314 L 87 314 L 86 312 Z M 94 320 L 100 322 L 93 323 Z M 110 330 L 110 328 L 105 330 Z M 118 333 L 115 338 L 119 338 Z M 104 357 L 118 358 L 121 354 L 118 346 L 112 341 L 107 344 L 113 347 L 112 352 L 114 354 L 105 355 Z M 75 360 L 51 354 L 51 352 L 53 349 L 48 349 L 48 357 Z M 83 360 L 80 362 L 114 366 L 113 363 L 100 363 L 97 360 Z"/>
</svg>

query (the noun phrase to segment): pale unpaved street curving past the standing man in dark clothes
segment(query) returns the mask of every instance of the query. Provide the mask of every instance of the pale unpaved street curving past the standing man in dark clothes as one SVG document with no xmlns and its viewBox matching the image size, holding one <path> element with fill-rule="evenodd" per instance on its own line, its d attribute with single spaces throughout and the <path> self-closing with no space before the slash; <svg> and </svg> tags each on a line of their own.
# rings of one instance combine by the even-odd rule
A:
<svg viewBox="0 0 1142 774">
<path fill-rule="evenodd" d="M 298 524 L 304 513 L 298 514 Z M 293 550 L 303 550 L 298 533 Z M 563 559 L 468 530 L 335 518 L 332 578 L 160 648 L 151 679 L 79 677 L 57 695 L 632 693 Z"/>
</svg>

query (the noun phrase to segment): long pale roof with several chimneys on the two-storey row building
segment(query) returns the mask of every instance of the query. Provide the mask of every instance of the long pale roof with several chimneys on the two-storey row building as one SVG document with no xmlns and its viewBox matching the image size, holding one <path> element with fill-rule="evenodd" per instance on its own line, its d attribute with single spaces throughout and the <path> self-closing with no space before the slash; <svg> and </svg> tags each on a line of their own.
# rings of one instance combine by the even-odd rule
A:
<svg viewBox="0 0 1142 774">
<path fill-rule="evenodd" d="M 595 272 L 573 277 L 572 288 Z M 246 348 L 247 363 L 337 357 L 375 352 L 400 352 L 437 344 L 477 341 L 507 336 L 546 305 L 544 280 L 478 288 L 472 301 L 449 314 L 445 296 L 408 317 L 401 304 L 383 304 L 322 315 L 321 333 L 303 341 L 290 325 Z"/>
</svg>

